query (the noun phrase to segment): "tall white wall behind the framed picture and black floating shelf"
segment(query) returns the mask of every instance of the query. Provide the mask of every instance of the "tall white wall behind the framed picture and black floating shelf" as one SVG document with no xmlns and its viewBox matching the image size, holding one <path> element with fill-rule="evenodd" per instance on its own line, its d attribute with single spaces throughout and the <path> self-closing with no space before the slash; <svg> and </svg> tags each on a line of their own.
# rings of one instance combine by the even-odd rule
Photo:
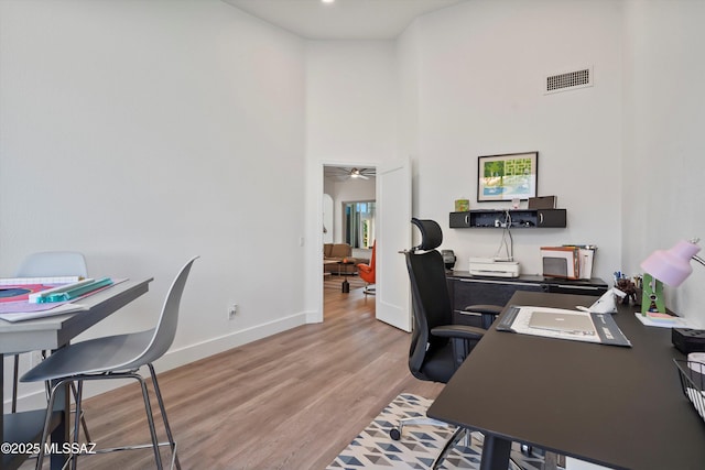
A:
<svg viewBox="0 0 705 470">
<path fill-rule="evenodd" d="M 597 244 L 596 274 L 606 281 L 619 269 L 620 6 L 463 2 L 421 17 L 402 36 L 400 81 L 417 70 L 415 97 L 404 85 L 417 100 L 416 120 L 404 117 L 403 128 L 416 128 L 413 214 L 441 222 L 457 269 L 470 255 L 496 254 L 501 232 L 449 229 L 454 200 L 510 207 L 476 203 L 477 157 L 528 151 L 539 151 L 539 195 L 556 195 L 568 221 L 566 229 L 512 230 L 522 272 L 540 273 L 540 247 L 563 243 Z M 593 87 L 543 94 L 547 75 L 585 66 L 594 68 Z"/>
</svg>

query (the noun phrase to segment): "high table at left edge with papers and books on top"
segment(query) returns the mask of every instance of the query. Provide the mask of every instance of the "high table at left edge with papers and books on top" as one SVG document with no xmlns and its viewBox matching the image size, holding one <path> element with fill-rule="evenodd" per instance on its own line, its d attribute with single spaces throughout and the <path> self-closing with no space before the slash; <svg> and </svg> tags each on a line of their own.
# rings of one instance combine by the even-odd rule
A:
<svg viewBox="0 0 705 470">
<path fill-rule="evenodd" d="M 3 361 L 8 352 L 36 351 L 57 349 L 67 345 L 73 338 L 105 319 L 130 302 L 149 291 L 152 278 L 144 281 L 126 281 L 105 291 L 78 300 L 88 307 L 87 311 L 66 314 L 34 320 L 9 323 L 0 320 L 0 403 L 3 403 Z M 64 393 L 63 409 L 68 407 L 68 394 Z M 44 409 L 15 414 L 0 414 L 0 442 L 39 442 L 44 426 Z M 52 440 L 63 441 L 68 436 L 68 420 L 65 413 L 57 413 L 56 430 Z M 66 456 L 52 456 L 52 468 L 61 468 Z M 22 464 L 26 456 L 18 453 L 0 453 L 0 470 L 15 469 Z"/>
</svg>

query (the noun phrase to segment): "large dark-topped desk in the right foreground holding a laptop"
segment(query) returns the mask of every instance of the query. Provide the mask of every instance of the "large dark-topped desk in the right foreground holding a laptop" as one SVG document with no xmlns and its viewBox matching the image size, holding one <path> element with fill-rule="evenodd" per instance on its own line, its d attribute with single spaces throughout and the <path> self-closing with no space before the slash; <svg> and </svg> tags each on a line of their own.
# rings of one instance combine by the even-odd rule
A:
<svg viewBox="0 0 705 470">
<path fill-rule="evenodd" d="M 594 300 L 517 292 L 509 305 Z M 482 431 L 487 470 L 508 468 L 511 441 L 619 469 L 705 468 L 705 422 L 681 391 L 671 330 L 644 327 L 628 306 L 615 320 L 632 348 L 492 327 L 427 415 Z"/>
</svg>

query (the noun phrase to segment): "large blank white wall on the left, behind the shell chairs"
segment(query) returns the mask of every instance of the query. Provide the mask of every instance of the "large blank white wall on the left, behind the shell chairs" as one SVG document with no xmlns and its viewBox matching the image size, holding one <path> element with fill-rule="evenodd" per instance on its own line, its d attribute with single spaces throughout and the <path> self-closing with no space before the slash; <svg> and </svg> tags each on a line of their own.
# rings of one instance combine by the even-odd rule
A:
<svg viewBox="0 0 705 470">
<path fill-rule="evenodd" d="M 154 276 L 100 336 L 153 325 L 200 254 L 162 367 L 304 323 L 304 72 L 302 40 L 217 0 L 0 2 L 0 275 L 69 249 Z"/>
</svg>

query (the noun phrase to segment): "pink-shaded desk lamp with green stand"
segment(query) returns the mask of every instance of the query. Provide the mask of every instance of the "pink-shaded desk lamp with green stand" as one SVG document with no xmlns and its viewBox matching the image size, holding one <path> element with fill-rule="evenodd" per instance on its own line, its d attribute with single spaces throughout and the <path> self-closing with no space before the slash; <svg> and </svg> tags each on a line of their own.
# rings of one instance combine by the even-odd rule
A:
<svg viewBox="0 0 705 470">
<path fill-rule="evenodd" d="M 663 285 L 677 287 L 693 272 L 691 260 L 705 266 L 705 260 L 696 253 L 701 248 L 696 244 L 699 239 L 682 240 L 669 250 L 657 250 L 641 263 L 644 270 L 643 297 L 641 313 L 665 313 L 663 303 Z"/>
</svg>

